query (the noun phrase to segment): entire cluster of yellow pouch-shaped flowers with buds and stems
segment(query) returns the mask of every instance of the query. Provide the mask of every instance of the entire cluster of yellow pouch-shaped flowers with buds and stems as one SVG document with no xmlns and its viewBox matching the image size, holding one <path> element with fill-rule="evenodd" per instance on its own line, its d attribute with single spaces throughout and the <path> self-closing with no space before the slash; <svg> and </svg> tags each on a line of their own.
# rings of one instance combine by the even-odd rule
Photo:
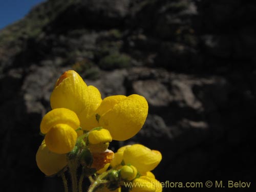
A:
<svg viewBox="0 0 256 192">
<path fill-rule="evenodd" d="M 162 190 L 152 185 L 158 181 L 150 172 L 161 161 L 160 152 L 140 144 L 123 146 L 115 154 L 108 149 L 112 140 L 124 141 L 140 131 L 148 111 L 144 97 L 115 95 L 102 100 L 97 88 L 87 86 L 70 70 L 55 83 L 50 103 L 52 110 L 40 124 L 44 140 L 36 153 L 45 175 L 57 174 L 65 180 L 69 169 L 73 192 L 78 189 L 76 170 L 80 167 L 80 181 L 87 176 L 92 182 L 89 191 L 120 191 L 125 182 L 151 183 L 135 185 L 131 191 Z"/>
</svg>

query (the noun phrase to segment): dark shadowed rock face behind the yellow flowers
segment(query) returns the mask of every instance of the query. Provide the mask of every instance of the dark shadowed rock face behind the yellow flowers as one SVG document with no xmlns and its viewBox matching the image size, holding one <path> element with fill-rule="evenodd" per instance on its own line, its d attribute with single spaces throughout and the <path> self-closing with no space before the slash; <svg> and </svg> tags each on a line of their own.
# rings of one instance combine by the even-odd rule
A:
<svg viewBox="0 0 256 192">
<path fill-rule="evenodd" d="M 54 83 L 69 69 L 102 98 L 147 99 L 143 129 L 111 147 L 142 143 L 161 151 L 160 181 L 252 182 L 255 8 L 241 0 L 50 0 L 0 31 L 3 190 L 63 191 L 58 178 L 40 173 L 35 154 Z M 163 190 L 170 189 L 181 190 Z"/>
</svg>

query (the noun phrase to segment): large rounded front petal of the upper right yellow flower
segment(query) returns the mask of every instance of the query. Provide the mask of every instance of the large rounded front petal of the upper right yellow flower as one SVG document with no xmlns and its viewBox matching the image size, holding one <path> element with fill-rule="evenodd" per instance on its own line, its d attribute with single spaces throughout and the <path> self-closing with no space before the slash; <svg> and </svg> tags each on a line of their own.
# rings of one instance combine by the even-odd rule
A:
<svg viewBox="0 0 256 192">
<path fill-rule="evenodd" d="M 140 131 L 146 120 L 147 111 L 148 105 L 144 97 L 130 95 L 102 114 L 99 124 L 110 131 L 113 140 L 127 140 Z"/>
</svg>

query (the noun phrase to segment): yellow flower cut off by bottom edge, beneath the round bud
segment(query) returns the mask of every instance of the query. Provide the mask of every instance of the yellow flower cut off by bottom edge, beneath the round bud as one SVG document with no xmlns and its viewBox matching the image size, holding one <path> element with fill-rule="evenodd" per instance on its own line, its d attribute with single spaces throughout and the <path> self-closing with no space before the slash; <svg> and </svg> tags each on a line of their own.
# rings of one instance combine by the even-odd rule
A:
<svg viewBox="0 0 256 192">
<path fill-rule="evenodd" d="M 132 192 L 162 192 L 162 185 L 154 178 L 142 176 L 133 180 Z"/>
</svg>

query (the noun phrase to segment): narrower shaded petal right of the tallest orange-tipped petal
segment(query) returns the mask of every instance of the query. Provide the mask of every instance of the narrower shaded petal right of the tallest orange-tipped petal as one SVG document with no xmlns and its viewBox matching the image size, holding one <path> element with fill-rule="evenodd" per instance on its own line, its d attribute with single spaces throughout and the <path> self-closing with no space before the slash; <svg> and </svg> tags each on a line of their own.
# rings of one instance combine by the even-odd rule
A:
<svg viewBox="0 0 256 192">
<path fill-rule="evenodd" d="M 87 87 L 87 94 L 87 106 L 80 114 L 78 114 L 78 118 L 80 120 L 80 126 L 82 127 L 82 129 L 90 131 L 94 127 L 99 126 L 99 123 L 95 117 L 95 111 L 100 105 L 102 99 L 99 90 L 94 86 Z"/>
</svg>

